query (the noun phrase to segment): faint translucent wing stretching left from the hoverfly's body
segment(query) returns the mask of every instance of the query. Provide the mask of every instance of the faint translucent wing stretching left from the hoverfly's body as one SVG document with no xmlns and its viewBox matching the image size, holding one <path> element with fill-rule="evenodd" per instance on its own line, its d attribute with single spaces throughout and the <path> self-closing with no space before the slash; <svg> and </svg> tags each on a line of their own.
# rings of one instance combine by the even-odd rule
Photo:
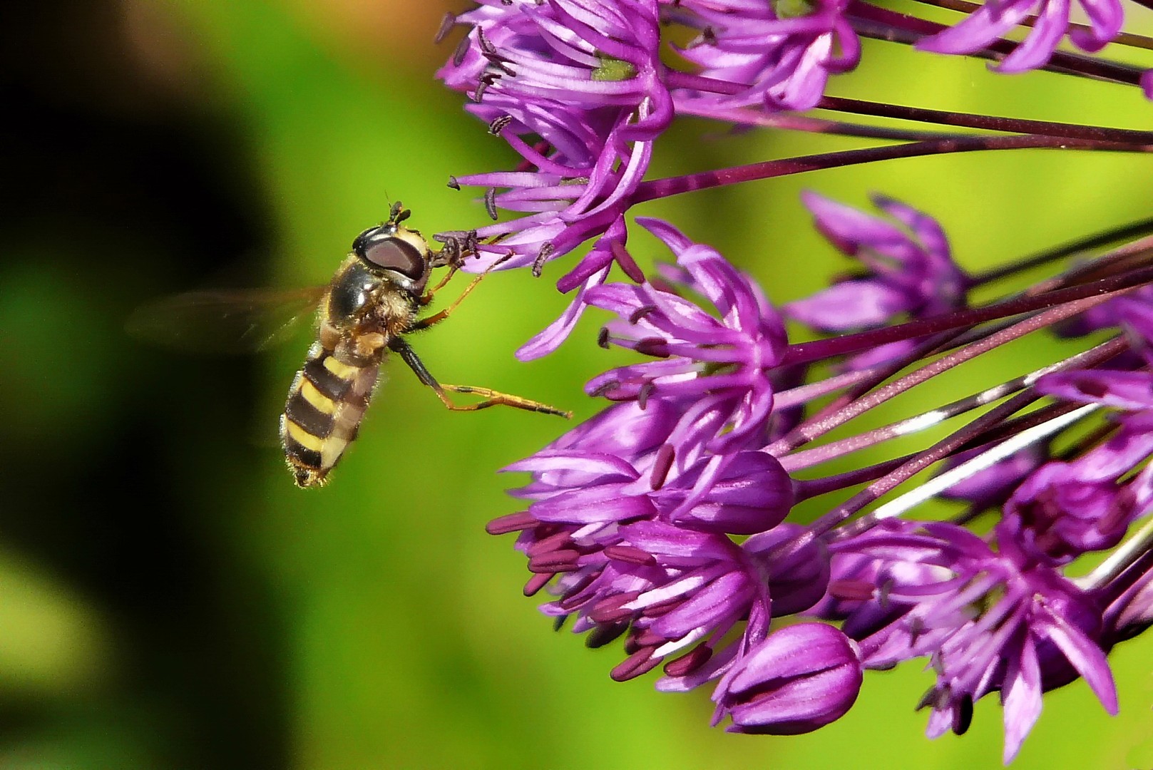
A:
<svg viewBox="0 0 1153 770">
<path fill-rule="evenodd" d="M 291 339 L 304 318 L 311 319 L 326 289 L 176 294 L 137 308 L 126 329 L 137 339 L 184 353 L 255 353 Z"/>
</svg>

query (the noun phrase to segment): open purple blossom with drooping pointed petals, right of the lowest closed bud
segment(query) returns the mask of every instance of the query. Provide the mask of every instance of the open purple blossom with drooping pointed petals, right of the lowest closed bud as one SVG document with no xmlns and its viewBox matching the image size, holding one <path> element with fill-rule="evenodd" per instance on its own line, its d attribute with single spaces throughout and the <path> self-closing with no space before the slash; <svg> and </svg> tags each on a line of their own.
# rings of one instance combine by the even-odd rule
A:
<svg viewBox="0 0 1153 770">
<path fill-rule="evenodd" d="M 1008 762 L 1040 716 L 1041 693 L 1070 681 L 1070 671 L 1085 678 L 1108 712 L 1116 712 L 1100 646 L 1100 610 L 1056 572 L 1022 564 L 962 527 L 936 522 L 889 521 L 830 550 L 835 574 L 837 559 L 846 554 L 904 561 L 917 568 L 911 574 L 921 575 L 898 582 L 898 571 L 886 571 L 888 580 L 874 587 L 869 603 L 899 611 L 858 641 L 866 667 L 929 656 L 937 674 L 922 701 L 933 709 L 930 737 L 965 732 L 973 703 L 1000 692 Z"/>
</svg>

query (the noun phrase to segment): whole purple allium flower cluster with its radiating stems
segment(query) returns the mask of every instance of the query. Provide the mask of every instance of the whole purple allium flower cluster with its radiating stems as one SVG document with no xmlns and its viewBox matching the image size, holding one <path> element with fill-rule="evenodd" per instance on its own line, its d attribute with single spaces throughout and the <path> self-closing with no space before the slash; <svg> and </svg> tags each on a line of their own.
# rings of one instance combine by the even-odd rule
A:
<svg viewBox="0 0 1153 770">
<path fill-rule="evenodd" d="M 711 688 L 714 724 L 793 734 L 844 716 L 866 670 L 921 658 L 929 735 L 965 732 L 996 693 L 1008 762 L 1046 692 L 1084 680 L 1116 712 L 1107 656 L 1153 625 L 1153 219 L 977 270 L 932 201 L 874 195 L 873 212 L 807 191 L 816 229 L 853 267 L 806 297 L 774 280 L 778 308 L 707 236 L 636 216 L 658 198 L 887 159 L 1153 149 L 1144 131 L 827 92 L 872 66 L 861 38 L 1125 95 L 1153 82 L 1097 55 L 1153 47 L 1122 32 L 1120 0 L 1082 0 L 1087 23 L 1055 0 L 947 8 L 952 25 L 866 0 L 484 0 L 449 20 L 466 32 L 439 76 L 517 157 L 452 181 L 482 188 L 496 221 L 439 237 L 467 270 L 541 275 L 565 261 L 570 304 L 520 358 L 552 352 L 587 315 L 602 347 L 632 356 L 586 384 L 598 414 L 505 468 L 528 475 L 511 492 L 519 509 L 488 527 L 517 534 L 525 592 L 545 596 L 558 627 L 589 647 L 621 640 L 613 679 L 660 669 L 660 690 Z M 814 107 L 826 118 L 796 114 Z M 887 143 L 662 178 L 654 150 L 687 115 Z M 634 224 L 662 261 L 630 243 Z M 1047 334 L 1073 341 L 1039 368 L 965 379 L 928 410 L 872 418 Z M 928 429 L 936 438 L 920 438 Z"/>
</svg>

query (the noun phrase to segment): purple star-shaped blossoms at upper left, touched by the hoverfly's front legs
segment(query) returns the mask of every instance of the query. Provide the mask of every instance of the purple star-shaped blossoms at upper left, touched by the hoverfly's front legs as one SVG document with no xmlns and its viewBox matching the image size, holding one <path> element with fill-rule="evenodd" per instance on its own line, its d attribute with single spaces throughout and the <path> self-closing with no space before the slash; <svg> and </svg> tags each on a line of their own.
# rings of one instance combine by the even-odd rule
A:
<svg viewBox="0 0 1153 770">
<path fill-rule="evenodd" d="M 604 234 L 621 219 L 651 154 L 653 139 L 672 119 L 661 65 L 657 3 L 651 0 L 502 0 L 458 17 L 472 24 L 467 47 L 439 76 L 475 100 L 469 111 L 523 158 L 521 168 L 457 178 L 490 188 L 487 202 L 527 212 L 478 228 L 470 269 L 534 265 Z M 503 191 L 497 191 L 503 190 Z M 613 239 L 620 241 L 623 239 Z M 604 262 L 620 248 L 602 244 Z M 625 256 L 626 272 L 638 278 Z M 582 263 L 575 288 L 600 267 Z M 639 280 L 639 278 L 638 278 Z"/>
</svg>

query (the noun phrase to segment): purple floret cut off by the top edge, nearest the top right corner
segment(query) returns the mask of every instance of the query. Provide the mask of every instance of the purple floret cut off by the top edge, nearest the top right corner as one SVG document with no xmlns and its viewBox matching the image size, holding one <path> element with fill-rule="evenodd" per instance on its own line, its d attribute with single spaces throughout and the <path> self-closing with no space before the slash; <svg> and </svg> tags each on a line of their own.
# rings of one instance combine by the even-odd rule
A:
<svg viewBox="0 0 1153 770">
<path fill-rule="evenodd" d="M 1061 38 L 1067 35 L 1082 51 L 1095 53 L 1121 31 L 1124 12 L 1118 0 L 1078 0 L 1088 20 L 1087 29 L 1069 28 L 1071 5 L 1069 0 L 985 3 L 954 27 L 920 40 L 917 47 L 935 53 L 975 53 L 1035 13 L 1037 23 L 1024 41 L 993 67 L 1000 73 L 1023 73 L 1047 65 Z"/>
</svg>

